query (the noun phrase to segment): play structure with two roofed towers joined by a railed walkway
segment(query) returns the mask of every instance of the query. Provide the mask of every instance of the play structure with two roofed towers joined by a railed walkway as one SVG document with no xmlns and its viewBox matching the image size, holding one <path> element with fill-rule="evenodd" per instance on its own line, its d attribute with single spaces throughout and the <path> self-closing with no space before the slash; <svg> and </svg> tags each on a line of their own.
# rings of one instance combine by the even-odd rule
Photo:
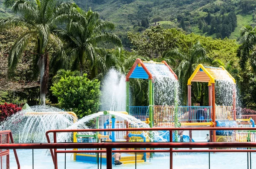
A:
<svg viewBox="0 0 256 169">
<path fill-rule="evenodd" d="M 172 105 L 154 105 L 154 89 L 156 88 L 157 79 L 168 78 L 173 85 L 174 101 Z M 129 79 L 148 79 L 148 106 L 130 106 L 129 105 Z M 166 80 L 166 79 L 165 79 Z M 225 70 L 224 67 L 204 67 L 199 64 L 188 80 L 188 105 L 178 106 L 178 87 L 177 76 L 169 65 L 163 62 L 143 62 L 137 59 L 131 70 L 126 76 L 126 111 L 140 120 L 149 118 L 150 127 L 236 127 L 240 121 L 236 121 L 236 81 Z M 215 82 L 219 84 L 226 83 L 231 87 L 232 105 L 216 106 L 215 105 Z M 207 82 L 209 87 L 209 105 L 192 106 L 191 102 L 191 85 L 192 82 Z M 159 83 L 158 83 L 159 84 Z M 164 94 L 166 91 L 162 91 Z M 230 98 L 229 98 L 230 99 Z M 247 119 L 247 125 L 252 126 L 253 120 Z M 241 126 L 241 125 L 240 125 Z M 219 135 L 223 138 L 224 134 Z M 211 141 L 216 141 L 216 132 L 213 131 L 210 137 Z M 227 133 L 225 133 L 227 135 Z M 219 137 L 221 136 L 221 137 Z M 175 141 L 178 141 L 178 133 L 175 132 Z M 192 131 L 189 132 L 190 141 L 192 141 Z"/>
</svg>

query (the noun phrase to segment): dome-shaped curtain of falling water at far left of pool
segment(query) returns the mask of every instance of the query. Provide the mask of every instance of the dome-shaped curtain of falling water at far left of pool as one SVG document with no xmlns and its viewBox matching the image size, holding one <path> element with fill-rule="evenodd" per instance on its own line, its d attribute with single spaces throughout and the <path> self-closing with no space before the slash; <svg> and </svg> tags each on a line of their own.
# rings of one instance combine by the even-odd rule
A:
<svg viewBox="0 0 256 169">
<path fill-rule="evenodd" d="M 60 113 L 62 110 L 49 106 L 31 107 L 34 112 L 49 112 L 45 114 L 26 113 L 22 110 L 0 124 L 1 130 L 11 130 L 15 142 L 31 143 L 47 142 L 45 132 L 48 130 L 65 129 L 77 119 L 68 113 Z M 86 129 L 86 125 L 81 125 Z M 51 135 L 52 140 L 52 135 Z"/>
</svg>

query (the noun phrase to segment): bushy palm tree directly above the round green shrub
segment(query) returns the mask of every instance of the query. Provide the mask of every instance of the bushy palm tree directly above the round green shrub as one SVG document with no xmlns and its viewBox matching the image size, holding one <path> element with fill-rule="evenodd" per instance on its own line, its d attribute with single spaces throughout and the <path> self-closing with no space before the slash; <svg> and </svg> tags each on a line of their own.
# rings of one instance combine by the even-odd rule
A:
<svg viewBox="0 0 256 169">
<path fill-rule="evenodd" d="M 89 65 L 91 70 L 97 66 L 104 66 L 104 58 L 100 55 L 102 48 L 97 46 L 99 42 L 113 42 L 121 46 L 121 40 L 114 34 L 105 32 L 113 30 L 114 25 L 108 21 L 99 19 L 99 13 L 89 9 L 87 12 L 80 8 L 74 8 L 72 12 L 81 15 L 80 18 L 70 19 L 66 30 L 57 33 L 70 43 L 73 50 L 70 52 L 74 64 L 79 63 L 80 75 L 84 73 L 84 67 Z M 98 64 L 98 65 L 96 65 Z M 96 69 L 91 71 L 91 78 L 96 76 Z"/>
</svg>

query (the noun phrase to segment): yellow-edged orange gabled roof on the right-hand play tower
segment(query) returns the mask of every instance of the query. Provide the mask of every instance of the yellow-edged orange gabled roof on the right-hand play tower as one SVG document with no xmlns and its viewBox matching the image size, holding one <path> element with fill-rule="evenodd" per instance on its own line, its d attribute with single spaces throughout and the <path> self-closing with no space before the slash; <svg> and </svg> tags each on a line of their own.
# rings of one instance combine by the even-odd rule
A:
<svg viewBox="0 0 256 169">
<path fill-rule="evenodd" d="M 223 66 L 215 68 L 204 67 L 203 65 L 199 64 L 194 73 L 190 76 L 188 85 L 191 85 L 191 82 L 208 82 L 209 85 L 211 85 L 211 83 L 215 83 L 215 80 L 225 80 L 236 84 L 236 80 Z"/>
</svg>

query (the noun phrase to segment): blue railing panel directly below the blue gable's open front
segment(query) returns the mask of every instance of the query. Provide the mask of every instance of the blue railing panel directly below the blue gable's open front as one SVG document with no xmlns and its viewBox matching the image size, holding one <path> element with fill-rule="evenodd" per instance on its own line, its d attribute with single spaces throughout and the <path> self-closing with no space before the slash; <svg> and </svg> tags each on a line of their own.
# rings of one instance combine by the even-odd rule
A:
<svg viewBox="0 0 256 169">
<path fill-rule="evenodd" d="M 141 121 L 145 121 L 146 118 L 149 118 L 148 106 L 130 106 L 129 114 Z"/>
</svg>

